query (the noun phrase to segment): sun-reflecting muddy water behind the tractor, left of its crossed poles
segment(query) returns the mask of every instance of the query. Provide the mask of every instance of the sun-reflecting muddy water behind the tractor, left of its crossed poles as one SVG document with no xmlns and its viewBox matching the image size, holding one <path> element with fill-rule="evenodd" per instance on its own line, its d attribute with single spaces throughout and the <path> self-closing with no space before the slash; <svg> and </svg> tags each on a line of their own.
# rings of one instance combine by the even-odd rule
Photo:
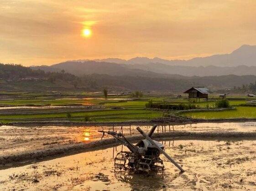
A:
<svg viewBox="0 0 256 191">
<path fill-rule="evenodd" d="M 146 132 L 151 126 L 143 126 Z M 62 145 L 72 145 L 80 142 L 90 142 L 101 139 L 99 130 L 113 131 L 113 127 L 66 127 L 66 126 L 42 126 L 42 127 L 0 127 L 0 155 L 15 154 L 24 151 L 35 151 L 40 149 L 55 148 Z M 115 127 L 115 131 L 122 131 Z M 126 136 L 137 133 L 136 126 L 124 127 Z M 104 138 L 112 138 L 104 136 Z"/>
</svg>

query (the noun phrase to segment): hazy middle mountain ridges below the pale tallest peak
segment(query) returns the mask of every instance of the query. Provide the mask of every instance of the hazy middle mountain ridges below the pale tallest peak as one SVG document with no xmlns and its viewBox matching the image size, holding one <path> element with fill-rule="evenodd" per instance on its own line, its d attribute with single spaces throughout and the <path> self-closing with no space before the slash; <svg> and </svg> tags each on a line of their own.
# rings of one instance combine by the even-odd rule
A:
<svg viewBox="0 0 256 191">
<path fill-rule="evenodd" d="M 109 62 L 96 61 L 67 61 L 51 66 L 32 66 L 34 70 L 44 70 L 51 72 L 60 72 L 65 70 L 74 75 L 91 75 L 91 74 L 107 74 L 107 75 L 129 75 L 129 76 L 152 76 L 164 77 L 172 75 L 184 76 L 211 76 L 211 75 L 255 75 L 256 66 L 239 65 L 234 67 L 220 66 L 178 66 L 166 65 L 161 63 L 149 63 L 146 65 L 134 64 L 117 64 Z"/>
</svg>

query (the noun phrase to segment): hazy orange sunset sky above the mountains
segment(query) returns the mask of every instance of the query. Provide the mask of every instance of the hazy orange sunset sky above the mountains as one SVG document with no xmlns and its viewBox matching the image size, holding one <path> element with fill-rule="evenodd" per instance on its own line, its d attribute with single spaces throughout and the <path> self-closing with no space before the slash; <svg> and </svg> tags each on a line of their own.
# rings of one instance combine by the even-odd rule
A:
<svg viewBox="0 0 256 191">
<path fill-rule="evenodd" d="M 243 44 L 256 45 L 256 0 L 0 0 L 0 63 L 189 59 Z"/>
</svg>

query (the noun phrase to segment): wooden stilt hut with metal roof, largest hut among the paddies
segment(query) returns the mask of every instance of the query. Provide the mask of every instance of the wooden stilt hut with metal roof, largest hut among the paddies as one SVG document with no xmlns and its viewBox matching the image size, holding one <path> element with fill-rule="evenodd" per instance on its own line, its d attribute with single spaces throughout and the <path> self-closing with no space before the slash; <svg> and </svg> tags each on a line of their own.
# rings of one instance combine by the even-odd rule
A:
<svg viewBox="0 0 256 191">
<path fill-rule="evenodd" d="M 200 98 L 205 98 L 206 101 L 208 101 L 209 93 L 211 93 L 211 91 L 205 87 L 192 87 L 184 92 L 184 94 L 188 94 L 188 99 L 196 98 L 196 101 L 197 99 L 200 101 Z"/>
</svg>

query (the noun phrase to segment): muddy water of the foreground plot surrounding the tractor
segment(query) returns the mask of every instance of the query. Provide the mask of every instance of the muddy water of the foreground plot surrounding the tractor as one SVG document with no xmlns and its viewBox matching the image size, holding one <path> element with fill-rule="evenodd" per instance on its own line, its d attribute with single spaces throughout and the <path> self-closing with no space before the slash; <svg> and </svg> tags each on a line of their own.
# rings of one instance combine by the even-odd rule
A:
<svg viewBox="0 0 256 191">
<path fill-rule="evenodd" d="M 161 142 L 186 172 L 162 155 L 158 174 L 115 170 L 118 146 L 1 170 L 0 190 L 256 190 L 256 141 Z"/>
</svg>

